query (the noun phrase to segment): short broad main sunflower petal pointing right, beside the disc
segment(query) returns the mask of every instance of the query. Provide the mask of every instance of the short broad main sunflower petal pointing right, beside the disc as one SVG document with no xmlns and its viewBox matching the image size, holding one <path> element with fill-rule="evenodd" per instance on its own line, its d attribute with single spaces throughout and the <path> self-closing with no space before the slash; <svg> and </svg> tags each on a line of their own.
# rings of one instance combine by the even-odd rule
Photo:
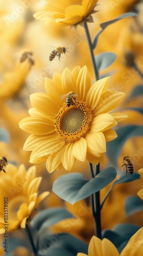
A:
<svg viewBox="0 0 143 256">
<path fill-rule="evenodd" d="M 104 132 L 117 125 L 117 122 L 110 114 L 102 114 L 92 120 L 90 129 L 93 132 Z"/>
</svg>

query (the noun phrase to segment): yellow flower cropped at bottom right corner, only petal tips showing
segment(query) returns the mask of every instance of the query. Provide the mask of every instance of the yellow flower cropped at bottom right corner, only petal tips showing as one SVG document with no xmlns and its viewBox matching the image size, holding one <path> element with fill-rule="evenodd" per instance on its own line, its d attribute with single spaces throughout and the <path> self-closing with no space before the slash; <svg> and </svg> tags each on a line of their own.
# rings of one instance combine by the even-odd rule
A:
<svg viewBox="0 0 143 256">
<path fill-rule="evenodd" d="M 93 236 L 88 247 L 88 256 L 142 256 L 143 228 L 140 228 L 129 240 L 121 254 L 118 253 L 114 244 L 104 238 L 103 240 Z M 77 256 L 87 256 L 79 252 Z"/>
</svg>

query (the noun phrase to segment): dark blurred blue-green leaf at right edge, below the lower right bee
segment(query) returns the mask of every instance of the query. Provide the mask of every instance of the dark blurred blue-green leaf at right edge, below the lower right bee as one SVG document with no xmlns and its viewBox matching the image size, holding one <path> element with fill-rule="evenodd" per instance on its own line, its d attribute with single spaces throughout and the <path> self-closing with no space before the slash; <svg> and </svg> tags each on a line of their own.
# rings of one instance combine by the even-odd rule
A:
<svg viewBox="0 0 143 256">
<path fill-rule="evenodd" d="M 125 201 L 125 210 L 127 216 L 143 211 L 143 201 L 137 196 L 128 197 Z"/>
</svg>

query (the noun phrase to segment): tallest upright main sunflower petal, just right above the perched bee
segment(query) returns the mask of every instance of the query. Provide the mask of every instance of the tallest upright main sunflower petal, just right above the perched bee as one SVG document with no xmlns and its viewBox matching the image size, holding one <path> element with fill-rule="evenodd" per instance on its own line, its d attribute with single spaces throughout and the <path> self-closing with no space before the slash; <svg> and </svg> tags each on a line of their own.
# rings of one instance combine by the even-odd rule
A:
<svg viewBox="0 0 143 256">
<path fill-rule="evenodd" d="M 78 94 L 78 99 L 85 101 L 86 100 L 86 95 L 91 87 L 91 77 L 88 73 L 87 67 L 84 66 L 78 75 L 77 78 L 77 89 L 76 92 Z"/>
</svg>

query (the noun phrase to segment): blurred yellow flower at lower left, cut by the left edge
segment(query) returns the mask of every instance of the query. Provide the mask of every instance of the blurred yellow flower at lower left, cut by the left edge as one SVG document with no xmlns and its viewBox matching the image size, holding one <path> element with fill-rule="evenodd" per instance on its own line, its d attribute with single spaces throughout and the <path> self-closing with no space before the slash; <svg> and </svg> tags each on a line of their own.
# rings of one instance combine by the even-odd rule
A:
<svg viewBox="0 0 143 256">
<path fill-rule="evenodd" d="M 26 227 L 26 221 L 36 209 L 38 204 L 47 196 L 49 192 L 45 191 L 38 196 L 38 188 L 41 177 L 36 178 L 36 167 L 32 166 L 26 170 L 21 164 L 19 168 L 8 164 L 5 168 L 6 174 L 1 172 L 0 180 L 0 202 L 8 208 L 8 231 Z M 8 205 L 8 206 L 6 206 Z M 0 210 L 0 234 L 5 233 L 4 218 L 7 217 L 4 208 Z M 7 219 L 7 218 L 6 218 Z"/>
</svg>

